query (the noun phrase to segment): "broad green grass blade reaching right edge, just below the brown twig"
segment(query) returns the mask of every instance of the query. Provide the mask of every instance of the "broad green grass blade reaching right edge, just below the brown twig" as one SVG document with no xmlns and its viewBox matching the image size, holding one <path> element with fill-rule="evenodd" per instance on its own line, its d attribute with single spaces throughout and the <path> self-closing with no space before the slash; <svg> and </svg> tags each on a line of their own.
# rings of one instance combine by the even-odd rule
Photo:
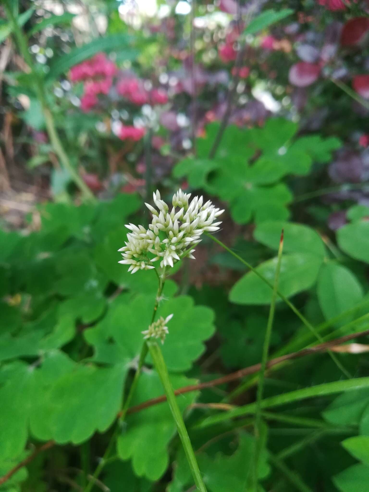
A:
<svg viewBox="0 0 369 492">
<path fill-rule="evenodd" d="M 286 403 L 292 403 L 294 401 L 305 400 L 306 398 L 322 397 L 328 395 L 334 395 L 344 391 L 360 390 L 362 388 L 369 388 L 369 377 L 359 377 L 357 379 L 349 379 L 344 381 L 334 381 L 332 383 L 323 383 L 311 388 L 303 388 L 301 390 L 291 391 L 289 393 L 283 393 L 274 397 L 261 400 L 261 408 L 274 408 Z M 206 417 L 196 424 L 193 429 L 204 429 L 206 427 L 213 426 L 226 420 L 243 417 L 245 415 L 253 415 L 256 411 L 256 403 L 249 403 L 244 406 L 240 406 L 229 410 L 228 412 L 222 412 L 211 417 Z"/>
</svg>

